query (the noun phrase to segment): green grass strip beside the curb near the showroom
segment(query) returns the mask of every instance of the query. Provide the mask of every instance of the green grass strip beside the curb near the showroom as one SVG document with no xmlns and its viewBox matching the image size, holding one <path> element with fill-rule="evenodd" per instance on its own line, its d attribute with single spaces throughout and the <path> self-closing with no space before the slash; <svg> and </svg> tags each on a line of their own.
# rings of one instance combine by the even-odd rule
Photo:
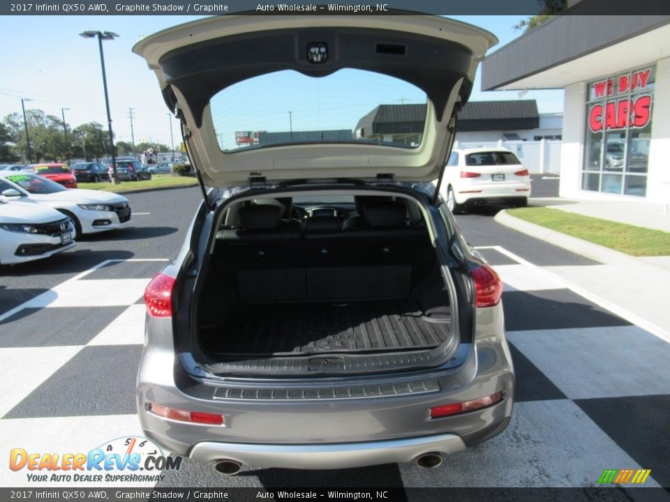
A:
<svg viewBox="0 0 670 502">
<path fill-rule="evenodd" d="M 634 227 L 625 223 L 544 207 L 509 209 L 507 213 L 521 220 L 535 223 L 535 225 L 541 225 L 631 256 L 670 255 L 670 234 L 668 232 Z"/>
</svg>

